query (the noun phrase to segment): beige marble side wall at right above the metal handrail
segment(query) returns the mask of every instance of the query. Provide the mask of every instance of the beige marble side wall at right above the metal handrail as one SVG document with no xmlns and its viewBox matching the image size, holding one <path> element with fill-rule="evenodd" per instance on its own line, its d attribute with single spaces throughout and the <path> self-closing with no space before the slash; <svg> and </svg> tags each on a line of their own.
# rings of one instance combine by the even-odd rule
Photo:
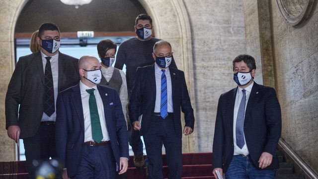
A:
<svg viewBox="0 0 318 179">
<path fill-rule="evenodd" d="M 308 18 L 296 26 L 287 23 L 276 0 L 244 0 L 244 6 L 246 49 L 261 57 L 264 84 L 276 89 L 282 110 L 281 137 L 318 171 L 317 1 Z"/>
</svg>

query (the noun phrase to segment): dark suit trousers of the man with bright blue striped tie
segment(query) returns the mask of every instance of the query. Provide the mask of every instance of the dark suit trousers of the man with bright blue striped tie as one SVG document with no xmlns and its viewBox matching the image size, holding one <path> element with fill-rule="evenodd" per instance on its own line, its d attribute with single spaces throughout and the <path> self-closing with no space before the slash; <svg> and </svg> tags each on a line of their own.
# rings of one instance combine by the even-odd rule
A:
<svg viewBox="0 0 318 179">
<path fill-rule="evenodd" d="M 150 129 L 144 135 L 144 141 L 149 162 L 149 179 L 163 179 L 162 144 L 166 153 L 168 179 L 181 179 L 182 140 L 174 131 L 173 115 L 169 114 L 165 119 L 154 116 L 151 119 Z"/>
</svg>

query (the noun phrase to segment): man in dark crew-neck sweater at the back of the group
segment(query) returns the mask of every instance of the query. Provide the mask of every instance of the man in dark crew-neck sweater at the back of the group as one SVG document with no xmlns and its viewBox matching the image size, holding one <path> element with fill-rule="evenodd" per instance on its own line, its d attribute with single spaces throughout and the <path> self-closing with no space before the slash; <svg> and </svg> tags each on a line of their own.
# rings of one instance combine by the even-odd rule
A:
<svg viewBox="0 0 318 179">
<path fill-rule="evenodd" d="M 126 79 L 128 97 L 130 98 L 133 89 L 133 83 L 138 67 L 145 67 L 154 64 L 152 58 L 153 47 L 160 39 L 152 37 L 153 19 L 147 14 L 139 14 L 135 20 L 136 37 L 121 43 L 116 55 L 115 68 L 123 70 L 126 65 Z M 170 67 L 177 68 L 174 59 Z M 130 129 L 130 145 L 134 152 L 134 164 L 137 168 L 145 165 L 144 161 L 144 144 L 140 139 L 139 131 Z"/>
</svg>

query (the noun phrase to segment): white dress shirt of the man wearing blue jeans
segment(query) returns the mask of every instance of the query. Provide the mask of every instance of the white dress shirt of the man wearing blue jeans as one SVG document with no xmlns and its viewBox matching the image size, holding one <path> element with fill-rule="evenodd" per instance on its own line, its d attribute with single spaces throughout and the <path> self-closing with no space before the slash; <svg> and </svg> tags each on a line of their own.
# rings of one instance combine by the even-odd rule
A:
<svg viewBox="0 0 318 179">
<path fill-rule="evenodd" d="M 245 109 L 244 111 L 246 111 L 246 106 L 247 106 L 247 102 L 248 102 L 248 98 L 250 95 L 250 92 L 252 90 L 252 87 L 254 85 L 254 82 L 252 82 L 252 84 L 250 84 L 247 88 L 245 88 L 245 96 L 246 96 L 246 101 L 245 101 Z M 233 115 L 233 142 L 234 142 L 234 155 L 248 155 L 248 149 L 247 149 L 247 145 L 246 145 L 246 140 L 245 140 L 245 134 L 244 134 L 244 146 L 240 149 L 237 145 L 237 135 L 236 135 L 236 125 L 237 125 L 237 117 L 238 117 L 238 112 L 239 112 L 239 104 L 240 101 L 242 100 L 242 96 L 243 96 L 243 92 L 242 92 L 242 88 L 238 87 L 238 91 L 237 91 L 237 95 L 235 98 L 235 105 L 234 105 L 234 115 Z M 244 113 L 244 118 L 245 118 L 245 113 Z"/>
</svg>

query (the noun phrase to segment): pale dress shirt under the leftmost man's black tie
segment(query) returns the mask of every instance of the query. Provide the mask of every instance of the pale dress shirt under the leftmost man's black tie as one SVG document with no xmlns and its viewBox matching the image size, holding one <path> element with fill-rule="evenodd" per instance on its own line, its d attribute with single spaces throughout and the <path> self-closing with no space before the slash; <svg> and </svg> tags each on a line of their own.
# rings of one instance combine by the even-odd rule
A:
<svg viewBox="0 0 318 179">
<path fill-rule="evenodd" d="M 42 57 L 42 63 L 43 63 L 43 72 L 45 75 L 45 66 L 46 66 L 46 56 L 41 51 L 41 57 Z M 52 77 L 53 77 L 53 87 L 54 87 L 54 104 L 55 104 L 55 111 L 51 116 L 46 115 L 46 113 L 43 112 L 41 121 L 55 121 L 56 119 L 56 99 L 58 97 L 58 91 L 59 91 L 59 53 L 52 56 L 50 59 L 51 63 L 51 70 L 52 70 Z"/>
</svg>

